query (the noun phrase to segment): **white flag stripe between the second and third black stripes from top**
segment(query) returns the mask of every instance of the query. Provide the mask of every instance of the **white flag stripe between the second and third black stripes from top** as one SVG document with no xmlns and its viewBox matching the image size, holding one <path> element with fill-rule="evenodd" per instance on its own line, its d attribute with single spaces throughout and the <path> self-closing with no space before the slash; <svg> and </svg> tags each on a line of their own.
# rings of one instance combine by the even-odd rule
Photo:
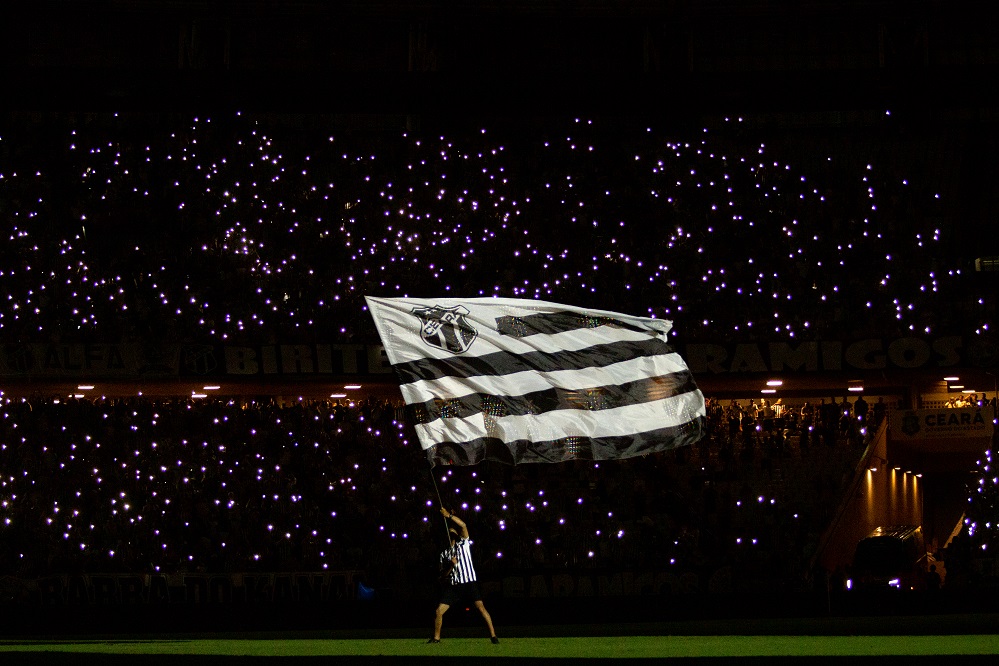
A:
<svg viewBox="0 0 999 666">
<path fill-rule="evenodd" d="M 583 390 L 597 386 L 624 384 L 647 377 L 660 377 L 685 372 L 687 366 L 678 354 L 644 356 L 599 368 L 557 370 L 554 372 L 525 371 L 509 375 L 480 375 L 457 379 L 441 377 L 403 384 L 402 397 L 408 404 L 434 398 L 458 398 L 474 393 L 488 395 L 524 395 L 549 388 Z"/>
</svg>

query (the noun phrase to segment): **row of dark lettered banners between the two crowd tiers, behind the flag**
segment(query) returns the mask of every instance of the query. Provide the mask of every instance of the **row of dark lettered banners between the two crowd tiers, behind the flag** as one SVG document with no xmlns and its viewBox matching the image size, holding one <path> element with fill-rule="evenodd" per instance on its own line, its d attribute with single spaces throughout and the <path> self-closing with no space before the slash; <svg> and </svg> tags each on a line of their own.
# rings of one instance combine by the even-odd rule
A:
<svg viewBox="0 0 999 666">
<path fill-rule="evenodd" d="M 976 344 L 978 346 L 976 346 Z M 981 344 L 965 345 L 959 336 L 926 340 L 907 337 L 871 338 L 849 343 L 835 340 L 743 342 L 729 345 L 678 345 L 695 375 L 761 372 L 829 372 L 953 368 L 964 364 L 993 367 Z M 966 358 L 965 358 L 966 357 Z M 218 361 L 216 361 L 218 359 Z M 985 359 L 985 360 L 983 360 Z M 992 363 L 993 366 L 988 365 Z M 983 365 L 984 364 L 984 365 Z M 977 366 L 976 366 L 977 367 Z M 0 345 L 0 377 L 87 377 L 99 380 L 211 375 L 341 375 L 390 374 L 382 345 L 276 344 L 259 346 L 192 346 L 179 344 L 49 344 Z"/>
</svg>

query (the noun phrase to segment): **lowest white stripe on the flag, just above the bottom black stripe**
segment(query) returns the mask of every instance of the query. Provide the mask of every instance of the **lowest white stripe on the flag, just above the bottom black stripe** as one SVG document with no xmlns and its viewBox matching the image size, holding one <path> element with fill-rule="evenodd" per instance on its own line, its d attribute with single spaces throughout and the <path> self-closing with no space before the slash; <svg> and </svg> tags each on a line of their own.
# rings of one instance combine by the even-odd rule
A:
<svg viewBox="0 0 999 666">
<path fill-rule="evenodd" d="M 665 400 L 599 411 L 560 410 L 499 418 L 487 418 L 480 413 L 464 419 L 438 419 L 418 424 L 416 431 L 420 446 L 426 450 L 445 442 L 460 444 L 486 437 L 515 442 L 628 436 L 680 426 L 704 414 L 703 397 L 699 391 L 693 391 Z"/>
</svg>

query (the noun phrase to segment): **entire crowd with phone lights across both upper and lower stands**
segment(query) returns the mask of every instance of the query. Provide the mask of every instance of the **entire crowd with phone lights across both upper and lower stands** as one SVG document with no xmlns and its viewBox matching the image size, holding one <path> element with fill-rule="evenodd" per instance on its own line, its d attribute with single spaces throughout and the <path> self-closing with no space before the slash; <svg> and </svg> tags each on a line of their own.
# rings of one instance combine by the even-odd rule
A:
<svg viewBox="0 0 999 666">
<path fill-rule="evenodd" d="M 328 136 L 241 114 L 17 129 L 4 344 L 374 341 L 366 294 L 542 298 L 673 319 L 686 341 L 973 335 L 995 314 L 931 184 L 792 165 L 736 118 L 681 136 Z M 398 405 L 5 399 L 0 573 L 358 568 L 402 590 L 443 538 L 436 484 L 484 578 L 727 564 L 804 585 L 884 414 L 842 409 L 711 401 L 690 449 L 432 479 Z"/>
</svg>

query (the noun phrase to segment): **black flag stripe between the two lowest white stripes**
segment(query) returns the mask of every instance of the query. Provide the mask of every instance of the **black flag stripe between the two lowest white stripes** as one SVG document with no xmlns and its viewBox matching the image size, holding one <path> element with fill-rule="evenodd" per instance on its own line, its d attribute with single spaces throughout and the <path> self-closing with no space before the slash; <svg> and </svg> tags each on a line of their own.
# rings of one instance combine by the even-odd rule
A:
<svg viewBox="0 0 999 666">
<path fill-rule="evenodd" d="M 694 378 L 690 372 L 684 371 L 610 386 L 550 388 L 517 396 L 474 393 L 407 405 L 406 410 L 412 423 L 429 423 L 439 418 L 468 418 L 480 412 L 500 417 L 544 414 L 560 409 L 613 409 L 696 390 Z"/>
</svg>

